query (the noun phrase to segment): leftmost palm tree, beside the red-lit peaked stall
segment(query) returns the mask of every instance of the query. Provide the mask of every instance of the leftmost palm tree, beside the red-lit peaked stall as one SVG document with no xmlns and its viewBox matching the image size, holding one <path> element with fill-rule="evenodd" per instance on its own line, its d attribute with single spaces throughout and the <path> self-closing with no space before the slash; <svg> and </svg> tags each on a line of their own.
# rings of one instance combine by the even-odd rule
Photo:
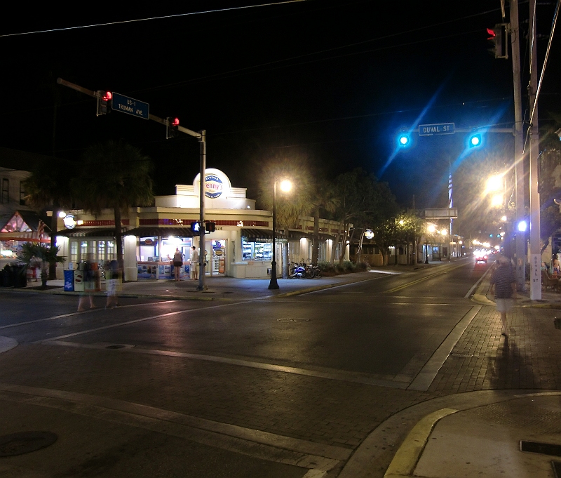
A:
<svg viewBox="0 0 561 478">
<path fill-rule="evenodd" d="M 29 178 L 24 181 L 25 201 L 41 210 L 52 206 L 50 222 L 50 248 L 55 249 L 58 212 L 60 208 L 72 205 L 72 192 L 68 186 L 69 174 L 74 167 L 65 159 L 53 158 L 36 165 Z M 49 265 L 49 279 L 56 279 L 56 263 Z"/>
</svg>

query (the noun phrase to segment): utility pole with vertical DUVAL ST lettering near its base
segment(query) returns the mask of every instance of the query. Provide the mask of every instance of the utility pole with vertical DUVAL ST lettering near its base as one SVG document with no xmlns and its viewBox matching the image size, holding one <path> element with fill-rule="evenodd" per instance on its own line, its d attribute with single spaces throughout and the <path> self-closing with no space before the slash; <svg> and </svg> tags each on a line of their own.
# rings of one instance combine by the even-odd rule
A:
<svg viewBox="0 0 561 478">
<path fill-rule="evenodd" d="M 529 159 L 530 159 L 530 300 L 541 300 L 541 247 L 538 192 L 538 55 L 536 50 L 536 0 L 530 0 L 530 84 L 529 84 Z"/>
</svg>

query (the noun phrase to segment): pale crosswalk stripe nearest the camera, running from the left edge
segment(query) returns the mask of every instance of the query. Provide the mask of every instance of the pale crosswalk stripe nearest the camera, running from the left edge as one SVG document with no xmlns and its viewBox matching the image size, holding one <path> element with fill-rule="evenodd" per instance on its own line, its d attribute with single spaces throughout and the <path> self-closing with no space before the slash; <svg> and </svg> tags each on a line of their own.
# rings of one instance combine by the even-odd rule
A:
<svg viewBox="0 0 561 478">
<path fill-rule="evenodd" d="M 63 390 L 0 383 L 0 399 L 151 430 L 255 458 L 322 472 L 337 467 L 352 453 L 351 449 L 341 446 L 308 442 L 153 406 Z"/>
</svg>

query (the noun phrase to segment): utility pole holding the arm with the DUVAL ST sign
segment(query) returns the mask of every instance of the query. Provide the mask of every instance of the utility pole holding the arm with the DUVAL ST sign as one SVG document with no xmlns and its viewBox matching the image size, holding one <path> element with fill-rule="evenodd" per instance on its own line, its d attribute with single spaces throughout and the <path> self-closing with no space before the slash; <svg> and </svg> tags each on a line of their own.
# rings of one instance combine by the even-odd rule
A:
<svg viewBox="0 0 561 478">
<path fill-rule="evenodd" d="M 520 26 L 518 25 L 518 0 L 511 0 L 511 39 L 513 58 L 513 86 L 514 86 L 514 174 L 515 174 L 515 201 L 516 215 L 513 224 L 518 224 L 524 219 L 525 214 L 525 167 L 524 167 L 524 140 L 522 138 L 522 99 L 520 85 Z M 526 244 L 525 233 L 515 231 L 516 248 L 516 282 L 519 292 L 526 290 Z"/>
</svg>

